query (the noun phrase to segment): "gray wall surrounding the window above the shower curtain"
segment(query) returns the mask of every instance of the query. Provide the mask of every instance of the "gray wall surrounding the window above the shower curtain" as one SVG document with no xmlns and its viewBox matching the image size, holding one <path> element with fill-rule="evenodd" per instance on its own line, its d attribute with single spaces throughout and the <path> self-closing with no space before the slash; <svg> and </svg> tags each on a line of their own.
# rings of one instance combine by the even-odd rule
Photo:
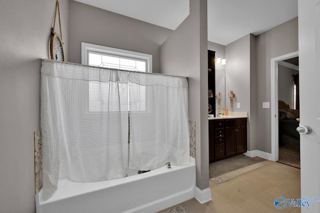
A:
<svg viewBox="0 0 320 213">
<path fill-rule="evenodd" d="M 160 45 L 172 30 L 69 0 L 69 62 L 81 63 L 81 42 L 152 55 L 160 70 Z"/>
</svg>

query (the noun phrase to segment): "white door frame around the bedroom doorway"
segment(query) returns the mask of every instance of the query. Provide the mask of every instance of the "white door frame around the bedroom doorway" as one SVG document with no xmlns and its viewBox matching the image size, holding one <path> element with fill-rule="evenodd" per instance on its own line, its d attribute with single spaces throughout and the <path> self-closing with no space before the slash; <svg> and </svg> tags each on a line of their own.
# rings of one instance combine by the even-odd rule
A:
<svg viewBox="0 0 320 213">
<path fill-rule="evenodd" d="M 271 58 L 271 160 L 279 158 L 278 131 L 278 62 L 299 56 L 299 51 Z"/>
</svg>

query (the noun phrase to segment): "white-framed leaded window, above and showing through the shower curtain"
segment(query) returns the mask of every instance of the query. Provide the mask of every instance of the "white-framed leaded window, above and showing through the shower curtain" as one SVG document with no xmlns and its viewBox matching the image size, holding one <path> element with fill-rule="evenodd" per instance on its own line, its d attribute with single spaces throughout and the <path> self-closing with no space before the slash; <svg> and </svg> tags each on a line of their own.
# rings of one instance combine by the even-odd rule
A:
<svg viewBox="0 0 320 213">
<path fill-rule="evenodd" d="M 115 68 L 139 72 L 152 72 L 152 55 L 133 52 L 123 49 L 116 49 L 106 46 L 100 46 L 95 44 L 89 44 L 81 42 L 81 63 L 91 66 L 100 66 L 106 68 Z M 89 112 L 104 112 L 107 109 L 107 89 L 101 90 L 101 88 L 108 88 L 108 83 L 101 82 L 89 82 Z M 129 106 L 128 87 L 120 85 L 120 93 L 123 97 L 128 97 L 127 100 L 121 98 L 121 104 L 127 104 Z M 131 104 L 134 104 L 138 111 L 145 111 L 145 89 L 141 86 L 134 87 L 130 85 L 131 92 L 138 94 L 138 97 Z M 105 94 L 103 94 L 105 93 Z M 126 107 L 123 107 L 126 109 Z M 115 111 L 117 109 L 114 109 Z M 123 109 L 124 110 L 124 109 Z"/>
</svg>

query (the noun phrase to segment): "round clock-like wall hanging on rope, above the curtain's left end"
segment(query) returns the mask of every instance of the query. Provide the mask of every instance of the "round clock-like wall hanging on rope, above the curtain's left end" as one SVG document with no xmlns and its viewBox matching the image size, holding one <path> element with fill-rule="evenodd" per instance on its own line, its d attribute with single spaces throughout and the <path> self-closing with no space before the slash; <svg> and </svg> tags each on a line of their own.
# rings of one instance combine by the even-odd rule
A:
<svg viewBox="0 0 320 213">
<path fill-rule="evenodd" d="M 56 12 L 58 12 L 58 15 L 59 15 L 60 35 L 54 31 Z M 59 8 L 58 0 L 55 3 L 54 21 L 53 21 L 53 26 L 51 28 L 51 35 L 50 35 L 50 58 L 56 61 L 64 61 L 60 8 Z"/>
</svg>

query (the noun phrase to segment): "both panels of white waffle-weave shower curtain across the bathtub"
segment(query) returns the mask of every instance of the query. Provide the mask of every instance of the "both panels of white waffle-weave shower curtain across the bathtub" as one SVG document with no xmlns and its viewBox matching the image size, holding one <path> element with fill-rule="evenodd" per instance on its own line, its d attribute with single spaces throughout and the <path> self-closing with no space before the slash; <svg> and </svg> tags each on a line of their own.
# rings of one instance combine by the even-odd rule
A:
<svg viewBox="0 0 320 213">
<path fill-rule="evenodd" d="M 128 167 L 188 164 L 185 77 L 42 59 L 40 122 L 44 200 L 58 179 L 106 181 Z"/>
</svg>

